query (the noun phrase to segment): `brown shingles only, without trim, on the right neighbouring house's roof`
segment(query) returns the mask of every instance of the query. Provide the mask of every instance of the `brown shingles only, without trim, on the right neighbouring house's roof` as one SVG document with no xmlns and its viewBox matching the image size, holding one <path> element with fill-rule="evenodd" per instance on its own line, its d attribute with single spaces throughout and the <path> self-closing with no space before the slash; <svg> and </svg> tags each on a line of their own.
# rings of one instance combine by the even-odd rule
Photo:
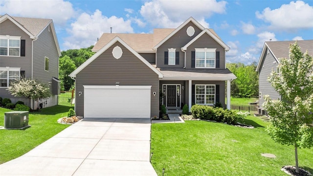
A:
<svg viewBox="0 0 313 176">
<path fill-rule="evenodd" d="M 265 42 L 268 45 L 269 50 L 275 55 L 276 59 L 285 57 L 289 58 L 289 45 L 295 41 L 275 41 Z M 309 55 L 313 55 L 313 40 L 299 40 L 298 46 L 302 52 L 308 50 Z"/>
</svg>

